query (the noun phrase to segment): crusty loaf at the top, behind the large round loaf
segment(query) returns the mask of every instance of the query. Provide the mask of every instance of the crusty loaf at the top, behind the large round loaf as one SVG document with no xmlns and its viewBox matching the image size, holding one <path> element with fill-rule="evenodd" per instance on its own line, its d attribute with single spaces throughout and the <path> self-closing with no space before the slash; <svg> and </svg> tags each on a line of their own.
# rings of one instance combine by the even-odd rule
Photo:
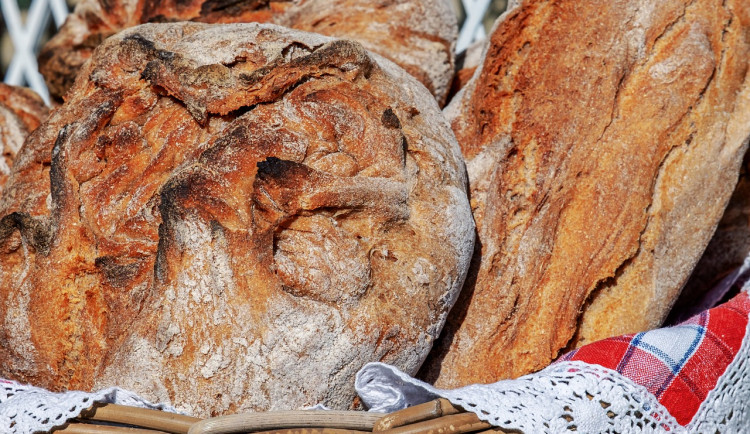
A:
<svg viewBox="0 0 750 434">
<path fill-rule="evenodd" d="M 39 69 L 50 93 L 62 97 L 105 38 L 137 24 L 182 20 L 269 22 L 352 39 L 406 69 L 441 105 L 453 77 L 458 26 L 446 0 L 82 0 L 42 48 Z"/>
</svg>

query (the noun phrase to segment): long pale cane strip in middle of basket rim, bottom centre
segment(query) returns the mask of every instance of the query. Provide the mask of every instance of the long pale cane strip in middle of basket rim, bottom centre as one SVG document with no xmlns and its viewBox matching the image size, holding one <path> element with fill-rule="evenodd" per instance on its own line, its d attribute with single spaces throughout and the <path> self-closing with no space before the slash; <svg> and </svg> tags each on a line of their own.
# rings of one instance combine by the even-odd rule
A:
<svg viewBox="0 0 750 434">
<path fill-rule="evenodd" d="M 219 416 L 202 420 L 190 427 L 189 434 L 230 434 L 290 428 L 336 428 L 372 431 L 382 417 L 364 411 L 271 411 Z"/>
</svg>

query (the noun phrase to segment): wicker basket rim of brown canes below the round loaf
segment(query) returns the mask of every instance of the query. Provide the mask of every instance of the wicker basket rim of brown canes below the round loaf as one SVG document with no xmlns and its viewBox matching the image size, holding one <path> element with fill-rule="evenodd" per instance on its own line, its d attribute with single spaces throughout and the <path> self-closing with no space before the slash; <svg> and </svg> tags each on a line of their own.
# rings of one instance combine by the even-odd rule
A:
<svg viewBox="0 0 750 434">
<path fill-rule="evenodd" d="M 363 411 L 274 411 L 198 419 L 158 410 L 115 404 L 93 407 L 65 427 L 65 434 L 225 434 L 289 433 L 339 434 L 382 432 L 502 433 L 473 414 L 438 399 L 382 415 Z"/>
</svg>

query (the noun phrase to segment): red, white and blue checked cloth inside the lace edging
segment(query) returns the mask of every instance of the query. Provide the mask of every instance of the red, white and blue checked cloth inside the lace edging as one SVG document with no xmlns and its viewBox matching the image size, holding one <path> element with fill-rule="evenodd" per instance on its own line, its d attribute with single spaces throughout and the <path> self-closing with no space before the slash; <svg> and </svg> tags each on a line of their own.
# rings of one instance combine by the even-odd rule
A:
<svg viewBox="0 0 750 434">
<path fill-rule="evenodd" d="M 597 341 L 557 363 L 581 361 L 615 370 L 645 387 L 687 425 L 735 359 L 749 314 L 750 297 L 741 292 L 678 326 Z"/>
</svg>

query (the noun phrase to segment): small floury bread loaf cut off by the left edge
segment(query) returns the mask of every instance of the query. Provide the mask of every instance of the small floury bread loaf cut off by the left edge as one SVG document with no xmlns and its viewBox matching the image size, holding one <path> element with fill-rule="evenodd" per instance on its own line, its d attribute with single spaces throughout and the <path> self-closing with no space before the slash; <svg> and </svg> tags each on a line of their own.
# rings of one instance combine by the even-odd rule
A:
<svg viewBox="0 0 750 434">
<path fill-rule="evenodd" d="M 0 83 L 0 191 L 26 137 L 47 117 L 48 108 L 31 89 Z"/>
</svg>

